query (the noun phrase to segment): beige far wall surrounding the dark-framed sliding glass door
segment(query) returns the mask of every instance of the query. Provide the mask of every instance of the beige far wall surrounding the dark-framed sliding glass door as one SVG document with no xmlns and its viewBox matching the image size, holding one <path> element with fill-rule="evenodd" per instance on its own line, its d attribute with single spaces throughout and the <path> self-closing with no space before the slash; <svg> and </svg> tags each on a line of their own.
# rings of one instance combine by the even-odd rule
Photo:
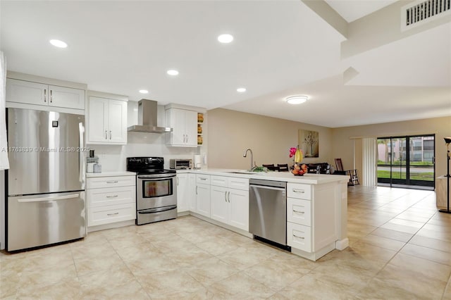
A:
<svg viewBox="0 0 451 300">
<path fill-rule="evenodd" d="M 435 175 L 446 173 L 446 145 L 443 137 L 451 136 L 451 117 L 431 118 L 403 122 L 383 123 L 354 127 L 333 128 L 333 157 L 342 158 L 345 169 L 357 168 L 362 174 L 362 139 L 352 137 L 390 137 L 402 135 L 435 134 Z M 355 167 L 354 161 L 355 143 Z"/>
</svg>

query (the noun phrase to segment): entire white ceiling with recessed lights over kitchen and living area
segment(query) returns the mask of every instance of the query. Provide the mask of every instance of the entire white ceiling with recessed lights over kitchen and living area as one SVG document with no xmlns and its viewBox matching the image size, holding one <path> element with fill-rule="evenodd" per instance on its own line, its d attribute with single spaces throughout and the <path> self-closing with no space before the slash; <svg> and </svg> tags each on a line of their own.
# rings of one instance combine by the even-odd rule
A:
<svg viewBox="0 0 451 300">
<path fill-rule="evenodd" d="M 326 1 L 348 22 L 393 2 Z M 0 10 L 8 70 L 131 100 L 327 127 L 451 115 L 450 23 L 340 59 L 344 37 L 298 0 L 1 0 Z M 235 39 L 219 44 L 225 32 Z M 68 48 L 54 48 L 52 38 Z M 344 82 L 351 66 L 359 75 Z M 171 68 L 180 75 L 166 75 Z M 290 106 L 292 94 L 310 100 Z"/>
</svg>

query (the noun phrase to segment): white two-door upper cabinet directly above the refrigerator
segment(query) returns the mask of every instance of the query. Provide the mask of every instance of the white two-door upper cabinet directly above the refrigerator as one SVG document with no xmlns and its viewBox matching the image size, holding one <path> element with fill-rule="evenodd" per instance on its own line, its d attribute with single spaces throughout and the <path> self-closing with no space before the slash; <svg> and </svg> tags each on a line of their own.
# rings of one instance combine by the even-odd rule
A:
<svg viewBox="0 0 451 300">
<path fill-rule="evenodd" d="M 85 90 L 8 78 L 6 101 L 83 110 Z"/>
</svg>

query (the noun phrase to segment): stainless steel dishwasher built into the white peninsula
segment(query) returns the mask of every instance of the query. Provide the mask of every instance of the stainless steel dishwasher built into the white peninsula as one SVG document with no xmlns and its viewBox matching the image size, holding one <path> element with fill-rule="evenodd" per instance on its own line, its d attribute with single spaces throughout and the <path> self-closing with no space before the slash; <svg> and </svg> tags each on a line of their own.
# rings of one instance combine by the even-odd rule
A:
<svg viewBox="0 0 451 300">
<path fill-rule="evenodd" d="M 249 232 L 255 239 L 287 246 L 287 182 L 249 180 Z M 278 246 L 278 245 L 276 245 Z"/>
</svg>

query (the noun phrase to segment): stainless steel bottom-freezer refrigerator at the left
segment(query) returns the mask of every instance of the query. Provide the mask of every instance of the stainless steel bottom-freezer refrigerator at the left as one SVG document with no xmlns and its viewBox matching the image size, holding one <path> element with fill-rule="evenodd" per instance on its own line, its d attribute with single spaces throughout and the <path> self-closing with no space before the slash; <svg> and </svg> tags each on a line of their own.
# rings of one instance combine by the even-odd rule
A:
<svg viewBox="0 0 451 300">
<path fill-rule="evenodd" d="M 8 108 L 6 250 L 86 236 L 85 116 Z"/>
</svg>

